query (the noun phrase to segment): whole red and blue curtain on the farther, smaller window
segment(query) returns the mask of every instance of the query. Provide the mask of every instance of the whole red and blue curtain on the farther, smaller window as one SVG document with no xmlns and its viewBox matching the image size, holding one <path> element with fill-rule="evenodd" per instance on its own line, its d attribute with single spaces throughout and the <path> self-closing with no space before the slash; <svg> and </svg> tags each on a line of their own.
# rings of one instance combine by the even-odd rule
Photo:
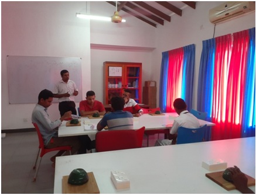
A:
<svg viewBox="0 0 256 195">
<path fill-rule="evenodd" d="M 187 109 L 192 106 L 195 46 L 177 48 L 162 53 L 159 107 L 162 112 L 175 112 L 173 101 L 180 97 Z"/>
</svg>

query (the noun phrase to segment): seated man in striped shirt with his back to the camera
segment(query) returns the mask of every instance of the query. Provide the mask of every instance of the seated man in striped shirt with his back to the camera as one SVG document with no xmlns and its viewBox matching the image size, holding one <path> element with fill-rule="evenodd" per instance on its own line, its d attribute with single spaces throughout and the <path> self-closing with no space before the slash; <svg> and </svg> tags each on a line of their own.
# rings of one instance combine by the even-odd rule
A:
<svg viewBox="0 0 256 195">
<path fill-rule="evenodd" d="M 124 109 L 124 99 L 122 97 L 112 97 L 111 107 L 113 112 L 105 114 L 98 122 L 98 131 L 101 131 L 105 126 L 108 126 L 108 130 L 129 130 L 134 128 L 132 113 L 122 110 Z"/>
</svg>

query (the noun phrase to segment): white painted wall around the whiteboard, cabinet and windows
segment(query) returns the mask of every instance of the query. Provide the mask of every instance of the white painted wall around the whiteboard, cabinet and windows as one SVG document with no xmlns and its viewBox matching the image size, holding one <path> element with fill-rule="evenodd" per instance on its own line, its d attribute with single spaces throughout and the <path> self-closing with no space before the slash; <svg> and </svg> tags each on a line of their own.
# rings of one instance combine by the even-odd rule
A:
<svg viewBox="0 0 256 195">
<path fill-rule="evenodd" d="M 196 108 L 202 41 L 211 39 L 214 29 L 208 11 L 221 3 L 196 2 L 196 10 L 187 7 L 182 17 L 174 15 L 170 23 L 155 28 L 122 11 L 120 15 L 127 19 L 125 24 L 89 23 L 76 18 L 76 12 L 86 10 L 86 2 L 2 2 L 2 130 L 32 127 L 30 117 L 35 106 L 9 105 L 6 55 L 81 57 L 83 99 L 87 90 L 94 90 L 97 99 L 103 100 L 104 61 L 142 62 L 142 81 L 157 81 L 159 92 L 162 52 L 196 44 Z M 107 2 L 90 2 L 87 6 L 91 14 L 111 16 L 115 11 Z M 217 25 L 215 36 L 251 27 L 255 27 L 255 12 Z M 91 50 L 90 43 L 94 46 Z M 100 48 L 101 44 L 107 47 Z M 52 119 L 59 117 L 57 105 L 49 108 Z M 23 122 L 24 118 L 28 122 Z"/>
</svg>

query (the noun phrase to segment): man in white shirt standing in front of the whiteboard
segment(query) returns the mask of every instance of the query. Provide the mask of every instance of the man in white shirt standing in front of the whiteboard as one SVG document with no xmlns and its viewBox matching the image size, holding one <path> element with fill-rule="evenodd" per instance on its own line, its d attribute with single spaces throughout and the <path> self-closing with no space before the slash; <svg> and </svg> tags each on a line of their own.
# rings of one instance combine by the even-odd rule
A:
<svg viewBox="0 0 256 195">
<path fill-rule="evenodd" d="M 78 95 L 76 83 L 69 79 L 69 71 L 63 69 L 60 72 L 62 80 L 56 83 L 53 95 L 59 98 L 60 116 L 71 110 L 72 114 L 77 114 L 76 103 L 74 103 L 74 96 Z"/>
</svg>

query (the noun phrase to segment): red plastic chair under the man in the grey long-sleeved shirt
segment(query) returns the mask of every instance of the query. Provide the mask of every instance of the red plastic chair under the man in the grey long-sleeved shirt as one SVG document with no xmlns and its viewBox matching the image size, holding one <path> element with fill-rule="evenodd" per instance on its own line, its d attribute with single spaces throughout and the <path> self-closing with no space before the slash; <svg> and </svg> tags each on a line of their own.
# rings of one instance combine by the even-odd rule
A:
<svg viewBox="0 0 256 195">
<path fill-rule="evenodd" d="M 36 181 L 36 176 L 37 176 L 37 172 L 39 170 L 39 166 L 40 166 L 40 163 L 42 161 L 42 157 L 43 155 L 45 155 L 46 153 L 48 152 L 52 152 L 52 151 L 60 151 L 60 150 L 66 150 L 66 151 L 69 151 L 70 152 L 70 155 L 71 155 L 71 146 L 70 145 L 66 145 L 66 146 L 62 146 L 62 147 L 56 147 L 56 148 L 45 148 L 45 145 L 43 143 L 43 137 L 40 133 L 40 130 L 37 126 L 36 123 L 33 123 L 33 126 L 35 126 L 36 128 L 36 132 L 37 132 L 37 135 L 38 135 L 38 140 L 39 140 L 39 150 L 38 150 L 38 153 L 37 153 L 37 156 L 36 156 L 36 162 L 35 162 L 35 165 L 33 166 L 33 169 L 36 169 L 36 173 L 35 173 L 35 176 L 33 178 L 33 182 Z M 37 160 L 40 156 L 40 161 L 39 161 L 39 164 L 36 166 L 37 164 Z"/>
</svg>

